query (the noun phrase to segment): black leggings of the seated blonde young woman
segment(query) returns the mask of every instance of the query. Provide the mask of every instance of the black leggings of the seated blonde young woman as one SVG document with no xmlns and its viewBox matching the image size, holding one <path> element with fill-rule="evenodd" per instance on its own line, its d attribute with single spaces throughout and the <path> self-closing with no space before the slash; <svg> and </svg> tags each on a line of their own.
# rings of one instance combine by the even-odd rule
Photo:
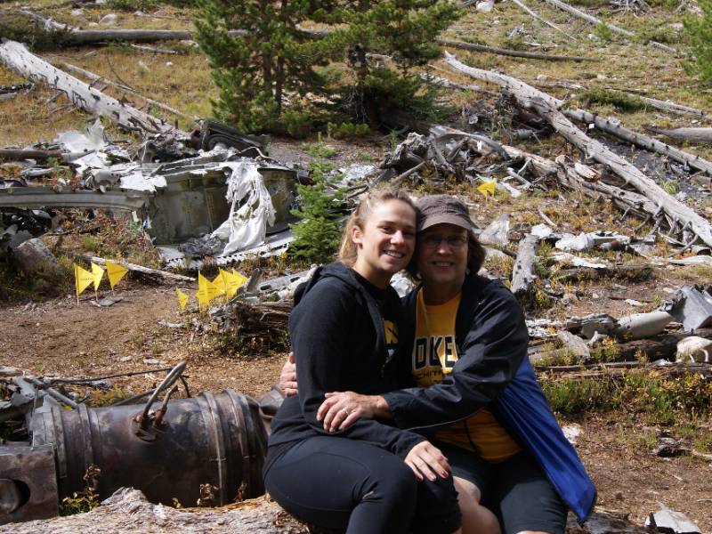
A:
<svg viewBox="0 0 712 534">
<path fill-rule="evenodd" d="M 300 441 L 264 473 L 290 514 L 347 534 L 449 534 L 460 526 L 452 477 L 418 482 L 400 457 L 365 441 Z"/>
</svg>

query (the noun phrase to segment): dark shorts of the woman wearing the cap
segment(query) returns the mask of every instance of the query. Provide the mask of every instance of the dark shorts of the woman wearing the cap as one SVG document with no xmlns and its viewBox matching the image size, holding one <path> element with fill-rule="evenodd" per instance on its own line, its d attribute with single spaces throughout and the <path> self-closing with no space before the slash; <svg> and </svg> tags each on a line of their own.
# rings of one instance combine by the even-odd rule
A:
<svg viewBox="0 0 712 534">
<path fill-rule="evenodd" d="M 433 445 L 448 457 L 454 476 L 477 486 L 481 504 L 497 515 L 503 534 L 522 530 L 564 532 L 567 508 L 528 452 L 492 464 L 456 445 L 442 441 L 433 441 Z"/>
</svg>

